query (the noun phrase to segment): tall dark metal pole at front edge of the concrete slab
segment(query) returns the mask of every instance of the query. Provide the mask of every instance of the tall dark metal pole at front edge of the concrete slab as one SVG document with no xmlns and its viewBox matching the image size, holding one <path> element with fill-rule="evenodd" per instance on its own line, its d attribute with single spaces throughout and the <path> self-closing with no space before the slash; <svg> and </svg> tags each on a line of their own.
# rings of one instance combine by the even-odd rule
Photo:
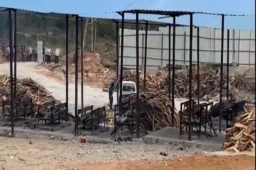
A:
<svg viewBox="0 0 256 170">
<path fill-rule="evenodd" d="M 192 117 L 192 46 L 193 45 L 193 14 L 190 14 L 189 30 L 189 123 L 188 123 L 188 140 L 191 141 L 191 117 Z"/>
</svg>

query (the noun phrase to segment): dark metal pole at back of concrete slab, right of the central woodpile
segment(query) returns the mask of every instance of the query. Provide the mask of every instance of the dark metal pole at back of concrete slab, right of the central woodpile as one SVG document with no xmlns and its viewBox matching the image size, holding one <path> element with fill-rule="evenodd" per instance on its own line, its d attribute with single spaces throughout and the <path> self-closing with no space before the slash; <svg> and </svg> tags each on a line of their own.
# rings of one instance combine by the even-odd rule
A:
<svg viewBox="0 0 256 170">
<path fill-rule="evenodd" d="M 173 17 L 173 38 L 172 38 L 172 126 L 174 127 L 174 112 L 175 112 L 175 102 L 174 102 L 174 86 L 175 86 L 175 31 L 176 31 L 176 17 Z"/>
</svg>

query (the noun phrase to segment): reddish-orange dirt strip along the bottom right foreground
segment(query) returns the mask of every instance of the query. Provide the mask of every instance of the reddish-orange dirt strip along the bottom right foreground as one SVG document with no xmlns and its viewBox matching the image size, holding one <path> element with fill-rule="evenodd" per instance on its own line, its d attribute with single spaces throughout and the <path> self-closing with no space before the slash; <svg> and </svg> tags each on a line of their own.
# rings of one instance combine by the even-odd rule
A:
<svg viewBox="0 0 256 170">
<path fill-rule="evenodd" d="M 58 167 L 48 167 L 57 170 Z M 63 170 L 254 170 L 255 157 L 247 155 L 236 156 L 190 156 L 168 161 L 140 161 L 129 163 L 111 163 L 63 167 Z"/>
</svg>

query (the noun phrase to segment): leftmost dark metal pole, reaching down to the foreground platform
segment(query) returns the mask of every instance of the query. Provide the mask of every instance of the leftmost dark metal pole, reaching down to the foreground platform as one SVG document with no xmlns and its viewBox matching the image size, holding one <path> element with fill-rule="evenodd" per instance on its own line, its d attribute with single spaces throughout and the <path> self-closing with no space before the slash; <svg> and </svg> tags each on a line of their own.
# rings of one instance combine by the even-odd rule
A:
<svg viewBox="0 0 256 170">
<path fill-rule="evenodd" d="M 12 46 L 12 10 L 8 9 L 9 12 L 9 47 L 10 47 L 10 84 L 11 84 L 11 135 L 14 135 L 14 112 L 13 112 L 13 73 L 12 73 L 12 57 L 13 57 L 13 46 Z"/>
</svg>

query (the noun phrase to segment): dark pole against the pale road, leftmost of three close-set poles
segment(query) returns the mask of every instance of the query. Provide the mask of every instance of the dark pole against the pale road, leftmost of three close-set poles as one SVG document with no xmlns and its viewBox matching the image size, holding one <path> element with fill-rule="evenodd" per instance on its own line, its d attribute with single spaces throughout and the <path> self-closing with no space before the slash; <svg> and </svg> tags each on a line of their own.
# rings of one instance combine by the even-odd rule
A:
<svg viewBox="0 0 256 170">
<path fill-rule="evenodd" d="M 66 117 L 68 114 L 68 19 L 69 15 L 66 14 Z"/>
</svg>

